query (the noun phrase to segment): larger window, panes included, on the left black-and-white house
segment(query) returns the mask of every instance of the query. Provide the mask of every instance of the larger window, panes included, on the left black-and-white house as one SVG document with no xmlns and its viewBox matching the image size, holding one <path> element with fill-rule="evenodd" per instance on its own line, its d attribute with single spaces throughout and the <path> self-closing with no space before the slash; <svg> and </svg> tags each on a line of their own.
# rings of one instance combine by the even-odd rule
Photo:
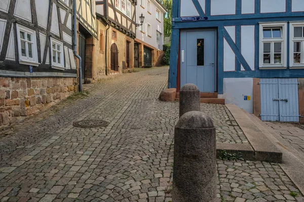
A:
<svg viewBox="0 0 304 202">
<path fill-rule="evenodd" d="M 19 63 L 38 66 L 36 32 L 19 24 L 16 24 L 16 27 Z"/>
</svg>

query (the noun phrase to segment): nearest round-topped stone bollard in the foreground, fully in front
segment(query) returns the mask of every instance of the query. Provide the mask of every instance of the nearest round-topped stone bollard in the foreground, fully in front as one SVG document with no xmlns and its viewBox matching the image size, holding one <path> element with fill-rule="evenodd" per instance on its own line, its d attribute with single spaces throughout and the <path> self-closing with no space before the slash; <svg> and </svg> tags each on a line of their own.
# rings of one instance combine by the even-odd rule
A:
<svg viewBox="0 0 304 202">
<path fill-rule="evenodd" d="M 175 126 L 173 202 L 216 199 L 216 140 L 211 118 L 187 112 Z"/>
</svg>

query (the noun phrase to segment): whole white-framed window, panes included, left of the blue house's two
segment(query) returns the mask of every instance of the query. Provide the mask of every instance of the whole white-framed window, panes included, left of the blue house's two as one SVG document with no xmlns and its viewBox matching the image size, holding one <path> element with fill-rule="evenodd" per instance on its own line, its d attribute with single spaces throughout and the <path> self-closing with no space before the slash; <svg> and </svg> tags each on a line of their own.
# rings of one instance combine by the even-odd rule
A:
<svg viewBox="0 0 304 202">
<path fill-rule="evenodd" d="M 259 67 L 287 67 L 287 23 L 261 23 L 259 30 Z"/>
</svg>

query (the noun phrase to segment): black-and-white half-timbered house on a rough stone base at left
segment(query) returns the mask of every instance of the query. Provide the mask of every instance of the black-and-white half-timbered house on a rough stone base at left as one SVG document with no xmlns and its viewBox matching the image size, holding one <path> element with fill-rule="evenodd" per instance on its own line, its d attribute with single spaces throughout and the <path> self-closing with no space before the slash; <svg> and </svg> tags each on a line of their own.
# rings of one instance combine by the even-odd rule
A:
<svg viewBox="0 0 304 202">
<path fill-rule="evenodd" d="M 77 90 L 72 0 L 0 0 L 0 126 Z"/>
</svg>

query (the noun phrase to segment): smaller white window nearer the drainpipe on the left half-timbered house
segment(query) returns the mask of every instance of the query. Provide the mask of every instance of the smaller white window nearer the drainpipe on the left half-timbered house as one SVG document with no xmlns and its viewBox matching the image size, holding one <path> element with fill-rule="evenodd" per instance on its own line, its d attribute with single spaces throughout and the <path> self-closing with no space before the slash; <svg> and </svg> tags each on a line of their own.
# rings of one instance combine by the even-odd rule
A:
<svg viewBox="0 0 304 202">
<path fill-rule="evenodd" d="M 52 67 L 55 69 L 64 68 L 63 43 L 51 37 L 51 48 Z"/>
</svg>

